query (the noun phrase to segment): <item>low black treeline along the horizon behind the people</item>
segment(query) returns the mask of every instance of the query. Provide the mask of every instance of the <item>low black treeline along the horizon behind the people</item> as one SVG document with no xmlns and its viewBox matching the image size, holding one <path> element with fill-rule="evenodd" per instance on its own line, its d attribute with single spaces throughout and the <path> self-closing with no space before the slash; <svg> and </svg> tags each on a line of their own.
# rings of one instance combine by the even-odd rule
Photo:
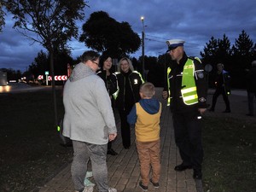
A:
<svg viewBox="0 0 256 192">
<path fill-rule="evenodd" d="M 116 59 L 119 60 L 123 55 L 120 55 Z M 212 71 L 208 73 L 210 87 L 214 86 L 214 74 L 217 70 L 216 65 L 221 62 L 224 64 L 224 69 L 230 72 L 231 87 L 244 89 L 245 75 L 247 73 L 246 69 L 249 69 L 251 67 L 251 62 L 256 60 L 256 45 L 245 31 L 241 31 L 241 34 L 233 45 L 230 44 L 229 38 L 224 34 L 222 39 L 212 37 L 205 45 L 200 55 L 203 65 L 212 65 Z M 125 56 L 130 57 L 126 54 Z M 131 61 L 134 68 L 140 73 L 143 73 L 142 56 L 138 59 L 133 57 L 131 58 Z M 158 57 L 145 55 L 144 62 L 146 80 L 152 82 L 156 87 L 162 87 L 166 80 L 166 66 L 172 62 L 170 56 L 166 54 L 159 55 Z M 64 75 L 67 74 L 67 63 L 74 66 L 79 63 L 79 57 L 73 59 L 70 56 L 70 52 L 65 51 L 63 53 L 55 54 L 54 63 L 55 74 Z M 113 66 L 113 71 L 115 70 L 116 67 Z M 44 75 L 45 71 L 49 71 L 49 55 L 41 50 L 32 64 L 28 67 L 28 70 L 23 74 L 21 74 L 19 70 L 15 72 L 12 69 L 3 69 L 3 71 L 9 72 L 8 79 L 20 79 L 20 76 L 22 75 L 37 78 L 38 75 Z"/>
</svg>

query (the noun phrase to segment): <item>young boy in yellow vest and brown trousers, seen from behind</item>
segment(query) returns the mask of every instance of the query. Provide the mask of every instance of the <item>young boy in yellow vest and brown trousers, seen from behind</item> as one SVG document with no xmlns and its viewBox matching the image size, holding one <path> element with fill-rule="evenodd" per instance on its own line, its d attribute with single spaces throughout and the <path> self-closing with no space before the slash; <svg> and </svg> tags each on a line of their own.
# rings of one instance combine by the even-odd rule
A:
<svg viewBox="0 0 256 192">
<path fill-rule="evenodd" d="M 139 186 L 148 190 L 148 183 L 159 188 L 160 178 L 160 114 L 161 103 L 154 96 L 154 84 L 149 82 L 140 87 L 141 100 L 133 106 L 127 116 L 130 125 L 135 124 L 137 153 L 141 166 Z M 150 166 L 152 178 L 149 179 Z"/>
</svg>

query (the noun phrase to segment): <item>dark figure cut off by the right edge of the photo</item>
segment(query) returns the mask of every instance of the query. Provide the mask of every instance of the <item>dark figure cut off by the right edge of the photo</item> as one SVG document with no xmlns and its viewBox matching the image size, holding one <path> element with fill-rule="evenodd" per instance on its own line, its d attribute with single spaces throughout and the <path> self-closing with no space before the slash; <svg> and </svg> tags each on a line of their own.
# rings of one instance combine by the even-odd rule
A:
<svg viewBox="0 0 256 192">
<path fill-rule="evenodd" d="M 248 112 L 247 116 L 254 115 L 253 100 L 256 97 L 256 61 L 252 62 L 252 68 L 248 70 L 247 76 L 247 100 L 248 100 Z"/>
</svg>

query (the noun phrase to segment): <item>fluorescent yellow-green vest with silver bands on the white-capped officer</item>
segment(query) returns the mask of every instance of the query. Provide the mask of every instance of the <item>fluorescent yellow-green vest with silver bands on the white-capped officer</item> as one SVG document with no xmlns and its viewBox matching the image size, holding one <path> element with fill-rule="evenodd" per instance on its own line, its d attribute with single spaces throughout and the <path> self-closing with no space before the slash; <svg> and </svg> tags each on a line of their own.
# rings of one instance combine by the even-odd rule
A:
<svg viewBox="0 0 256 192">
<path fill-rule="evenodd" d="M 171 73 L 172 69 L 171 67 L 167 68 L 167 79 L 169 78 L 169 74 Z M 196 85 L 195 85 L 195 79 L 194 79 L 194 73 L 195 73 L 195 65 L 194 61 L 191 59 L 188 59 L 186 61 L 184 67 L 183 67 L 183 79 L 182 79 L 182 89 L 181 94 L 183 96 L 183 102 L 186 105 L 193 105 L 198 102 L 198 96 L 196 91 Z M 169 97 L 167 101 L 167 105 L 169 106 L 171 104 L 171 90 L 170 90 L 170 82 L 168 79 L 167 82 L 168 90 L 169 90 Z"/>
</svg>

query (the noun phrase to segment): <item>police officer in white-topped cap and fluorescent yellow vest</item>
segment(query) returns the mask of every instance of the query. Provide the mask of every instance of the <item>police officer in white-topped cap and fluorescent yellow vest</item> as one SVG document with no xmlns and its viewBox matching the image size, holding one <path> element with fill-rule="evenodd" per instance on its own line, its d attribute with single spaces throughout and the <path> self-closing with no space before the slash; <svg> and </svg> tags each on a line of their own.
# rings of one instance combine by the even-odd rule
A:
<svg viewBox="0 0 256 192">
<path fill-rule="evenodd" d="M 193 168 L 193 177 L 201 179 L 201 114 L 207 110 L 207 79 L 201 61 L 184 52 L 183 40 L 172 39 L 166 43 L 172 63 L 167 67 L 162 96 L 168 99 L 171 108 L 175 142 L 183 160 L 174 170 L 183 172 Z"/>
</svg>

